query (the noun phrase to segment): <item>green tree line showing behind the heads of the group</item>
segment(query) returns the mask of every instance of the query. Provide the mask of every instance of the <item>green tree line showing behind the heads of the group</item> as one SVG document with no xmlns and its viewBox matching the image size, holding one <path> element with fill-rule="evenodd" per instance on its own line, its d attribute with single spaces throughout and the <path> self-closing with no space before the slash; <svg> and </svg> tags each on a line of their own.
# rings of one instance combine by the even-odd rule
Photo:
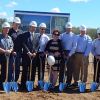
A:
<svg viewBox="0 0 100 100">
<path fill-rule="evenodd" d="M 0 19 L 0 33 L 2 33 L 2 23 L 6 22 L 6 21 L 7 21 L 6 18 L 1 18 Z M 9 22 L 9 24 L 12 27 L 12 22 Z M 75 33 L 76 35 L 79 34 L 80 33 L 79 32 L 79 27 L 73 27 L 72 32 Z M 95 38 L 97 38 L 97 29 L 87 28 L 86 34 L 89 35 L 92 38 L 92 40 L 94 40 Z"/>
</svg>

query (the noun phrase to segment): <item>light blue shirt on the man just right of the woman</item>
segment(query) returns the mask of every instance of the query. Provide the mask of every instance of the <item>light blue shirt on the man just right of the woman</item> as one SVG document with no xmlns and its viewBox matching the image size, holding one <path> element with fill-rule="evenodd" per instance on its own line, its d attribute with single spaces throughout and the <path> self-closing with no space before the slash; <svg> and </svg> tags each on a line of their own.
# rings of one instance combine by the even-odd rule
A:
<svg viewBox="0 0 100 100">
<path fill-rule="evenodd" d="M 64 43 L 64 50 L 70 50 L 68 56 L 71 56 L 76 49 L 77 46 L 77 36 L 76 34 L 70 32 L 67 34 L 66 32 L 60 35 L 60 39 Z"/>
</svg>

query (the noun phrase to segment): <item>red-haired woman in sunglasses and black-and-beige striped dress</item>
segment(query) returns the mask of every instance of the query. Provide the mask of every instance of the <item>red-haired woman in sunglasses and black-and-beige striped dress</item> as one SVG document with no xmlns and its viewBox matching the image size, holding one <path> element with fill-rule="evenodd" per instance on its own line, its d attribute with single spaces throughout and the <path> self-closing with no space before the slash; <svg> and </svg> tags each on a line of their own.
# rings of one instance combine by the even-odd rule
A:
<svg viewBox="0 0 100 100">
<path fill-rule="evenodd" d="M 52 66 L 51 73 L 50 73 L 50 82 L 52 83 L 52 89 L 55 88 L 55 84 L 58 78 L 58 72 L 60 68 L 60 61 L 62 59 L 63 53 L 63 42 L 59 39 L 60 31 L 58 29 L 53 30 L 52 38 L 48 41 L 45 52 L 46 54 L 52 55 L 55 58 L 55 64 Z M 48 72 L 49 72 L 49 66 Z"/>
</svg>

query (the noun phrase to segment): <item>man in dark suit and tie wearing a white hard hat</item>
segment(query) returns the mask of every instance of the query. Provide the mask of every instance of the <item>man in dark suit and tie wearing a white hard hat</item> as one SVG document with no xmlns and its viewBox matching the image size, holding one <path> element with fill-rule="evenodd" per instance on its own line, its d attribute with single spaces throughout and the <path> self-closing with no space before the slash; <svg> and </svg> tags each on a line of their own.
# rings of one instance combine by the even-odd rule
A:
<svg viewBox="0 0 100 100">
<path fill-rule="evenodd" d="M 28 67 L 30 67 L 30 58 L 33 57 L 32 60 L 32 74 L 31 81 L 35 80 L 35 72 L 36 72 L 36 63 L 37 63 L 37 52 L 39 50 L 39 36 L 35 34 L 35 30 L 37 27 L 37 23 L 32 21 L 29 24 L 29 31 L 23 34 L 22 44 L 23 44 L 23 57 L 22 57 L 22 79 L 21 79 L 21 87 L 25 89 L 26 81 L 27 81 L 27 72 Z"/>
</svg>

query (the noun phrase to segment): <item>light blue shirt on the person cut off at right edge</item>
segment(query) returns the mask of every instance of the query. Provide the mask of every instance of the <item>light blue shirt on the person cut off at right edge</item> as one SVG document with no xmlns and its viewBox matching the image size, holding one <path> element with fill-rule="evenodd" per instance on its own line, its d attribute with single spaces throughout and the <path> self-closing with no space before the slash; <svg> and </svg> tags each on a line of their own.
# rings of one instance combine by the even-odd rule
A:
<svg viewBox="0 0 100 100">
<path fill-rule="evenodd" d="M 93 40 L 91 52 L 93 55 L 100 55 L 100 39 L 99 38 Z"/>
</svg>

